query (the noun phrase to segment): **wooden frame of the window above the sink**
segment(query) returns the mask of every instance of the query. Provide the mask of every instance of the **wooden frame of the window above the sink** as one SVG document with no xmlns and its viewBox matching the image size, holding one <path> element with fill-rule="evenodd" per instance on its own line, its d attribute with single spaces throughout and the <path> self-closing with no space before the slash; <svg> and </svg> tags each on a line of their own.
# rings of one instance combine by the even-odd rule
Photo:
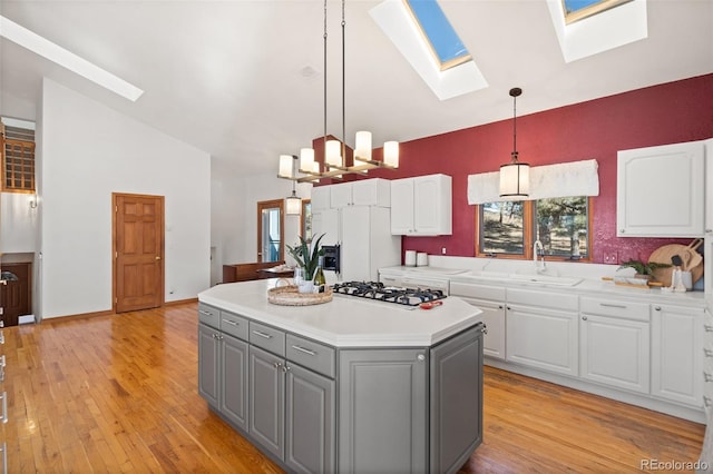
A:
<svg viewBox="0 0 713 474">
<path fill-rule="evenodd" d="M 565 257 L 559 255 L 545 255 L 545 258 L 549 261 L 580 261 L 580 263 L 592 263 L 594 249 L 593 249 L 593 225 L 594 225 L 594 198 L 592 196 L 586 196 L 587 198 L 587 256 L 583 258 L 574 259 L 572 257 Z M 539 200 L 539 199 L 538 199 Z M 482 237 L 482 233 L 480 229 L 481 225 L 481 209 L 482 205 L 476 206 L 476 215 L 475 215 L 475 247 L 476 247 L 476 257 L 484 258 L 499 258 L 499 259 L 509 259 L 509 260 L 531 260 L 533 255 L 533 245 L 535 244 L 535 203 L 537 200 L 526 200 L 522 201 L 522 254 L 496 254 L 496 253 L 487 253 L 480 250 L 480 239 Z"/>
</svg>

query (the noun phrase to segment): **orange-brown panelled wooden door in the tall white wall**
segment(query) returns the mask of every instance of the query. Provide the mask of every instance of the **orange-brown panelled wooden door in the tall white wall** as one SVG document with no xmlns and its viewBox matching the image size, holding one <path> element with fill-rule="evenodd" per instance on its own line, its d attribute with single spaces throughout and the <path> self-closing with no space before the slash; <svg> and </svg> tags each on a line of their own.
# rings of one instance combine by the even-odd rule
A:
<svg viewBox="0 0 713 474">
<path fill-rule="evenodd" d="M 116 313 L 164 303 L 164 197 L 114 194 Z"/>
</svg>

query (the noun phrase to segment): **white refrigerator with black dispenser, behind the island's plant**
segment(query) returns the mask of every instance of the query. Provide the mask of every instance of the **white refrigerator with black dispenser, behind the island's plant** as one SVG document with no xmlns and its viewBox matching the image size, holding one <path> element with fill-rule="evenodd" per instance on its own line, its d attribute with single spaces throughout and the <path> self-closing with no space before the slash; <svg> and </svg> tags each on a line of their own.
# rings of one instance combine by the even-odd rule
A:
<svg viewBox="0 0 713 474">
<path fill-rule="evenodd" d="M 312 214 L 313 239 L 324 234 L 321 245 L 340 245 L 340 274 L 325 271 L 329 284 L 378 282 L 379 268 L 401 264 L 401 236 L 391 235 L 391 209 L 346 206 Z"/>
</svg>

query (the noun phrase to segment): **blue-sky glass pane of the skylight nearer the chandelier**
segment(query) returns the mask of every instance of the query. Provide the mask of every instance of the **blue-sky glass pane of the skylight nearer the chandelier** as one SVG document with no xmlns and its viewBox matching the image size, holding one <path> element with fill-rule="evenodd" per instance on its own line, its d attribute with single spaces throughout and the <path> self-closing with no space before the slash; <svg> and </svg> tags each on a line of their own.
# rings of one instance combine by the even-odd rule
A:
<svg viewBox="0 0 713 474">
<path fill-rule="evenodd" d="M 436 0 L 403 0 L 433 57 L 446 70 L 469 61 L 470 53 Z"/>
</svg>

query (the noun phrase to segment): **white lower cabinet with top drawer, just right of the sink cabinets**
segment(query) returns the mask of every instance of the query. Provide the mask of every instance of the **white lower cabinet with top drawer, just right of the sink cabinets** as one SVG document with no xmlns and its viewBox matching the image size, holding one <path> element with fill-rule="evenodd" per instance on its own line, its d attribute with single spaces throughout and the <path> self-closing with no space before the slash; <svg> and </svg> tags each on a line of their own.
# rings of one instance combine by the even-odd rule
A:
<svg viewBox="0 0 713 474">
<path fill-rule="evenodd" d="M 648 304 L 582 298 L 580 316 L 580 377 L 647 394 Z"/>
</svg>

